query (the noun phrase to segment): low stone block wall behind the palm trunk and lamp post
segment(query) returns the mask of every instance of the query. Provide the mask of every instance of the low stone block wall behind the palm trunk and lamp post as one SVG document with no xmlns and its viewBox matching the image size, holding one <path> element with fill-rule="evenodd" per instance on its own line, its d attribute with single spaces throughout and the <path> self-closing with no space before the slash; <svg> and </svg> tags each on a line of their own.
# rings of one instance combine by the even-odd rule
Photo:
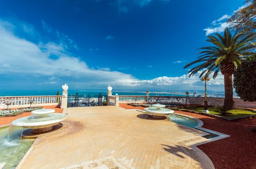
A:
<svg viewBox="0 0 256 169">
<path fill-rule="evenodd" d="M 209 106 L 220 106 L 224 104 L 224 98 L 221 97 L 208 97 Z M 256 108 L 256 101 L 247 102 L 239 98 L 234 98 L 236 107 L 247 107 L 247 108 Z M 204 97 L 189 97 L 189 104 L 204 104 Z"/>
</svg>

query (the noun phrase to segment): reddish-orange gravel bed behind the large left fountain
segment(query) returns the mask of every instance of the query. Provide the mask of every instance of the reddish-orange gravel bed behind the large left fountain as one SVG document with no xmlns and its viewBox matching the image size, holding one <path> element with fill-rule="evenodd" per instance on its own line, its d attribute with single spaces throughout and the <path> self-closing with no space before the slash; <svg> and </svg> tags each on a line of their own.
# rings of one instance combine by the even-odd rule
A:
<svg viewBox="0 0 256 169">
<path fill-rule="evenodd" d="M 43 106 L 43 108 L 54 109 L 55 113 L 62 113 L 62 111 L 63 111 L 63 109 L 61 109 L 59 106 Z M 16 109 L 16 108 L 12 108 L 12 110 L 13 109 Z M 17 118 L 26 117 L 26 116 L 29 116 L 29 115 L 31 115 L 30 112 L 24 112 L 24 113 L 21 113 L 20 115 L 17 115 L 17 116 L 0 117 L 0 125 L 10 124 L 12 121 L 14 121 Z"/>
</svg>

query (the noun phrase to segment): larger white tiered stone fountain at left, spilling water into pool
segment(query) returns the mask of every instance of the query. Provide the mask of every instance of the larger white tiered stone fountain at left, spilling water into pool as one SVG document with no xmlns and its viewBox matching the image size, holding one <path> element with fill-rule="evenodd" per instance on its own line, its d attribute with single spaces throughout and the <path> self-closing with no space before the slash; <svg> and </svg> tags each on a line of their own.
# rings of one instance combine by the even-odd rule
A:
<svg viewBox="0 0 256 169">
<path fill-rule="evenodd" d="M 59 124 L 67 118 L 66 114 L 55 113 L 53 109 L 41 109 L 32 111 L 31 116 L 12 121 L 11 125 L 32 129 L 33 133 L 40 133 L 52 130 L 52 126 Z"/>
</svg>

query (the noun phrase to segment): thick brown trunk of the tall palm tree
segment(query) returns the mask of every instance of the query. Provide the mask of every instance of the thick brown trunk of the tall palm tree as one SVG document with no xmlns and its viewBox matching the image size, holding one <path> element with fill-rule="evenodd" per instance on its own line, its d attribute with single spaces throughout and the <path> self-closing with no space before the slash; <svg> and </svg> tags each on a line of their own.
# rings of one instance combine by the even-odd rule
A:
<svg viewBox="0 0 256 169">
<path fill-rule="evenodd" d="M 232 74 L 224 75 L 224 87 L 225 87 L 225 99 L 224 99 L 224 108 L 227 110 L 235 109 L 235 102 L 233 99 L 233 82 Z"/>
</svg>

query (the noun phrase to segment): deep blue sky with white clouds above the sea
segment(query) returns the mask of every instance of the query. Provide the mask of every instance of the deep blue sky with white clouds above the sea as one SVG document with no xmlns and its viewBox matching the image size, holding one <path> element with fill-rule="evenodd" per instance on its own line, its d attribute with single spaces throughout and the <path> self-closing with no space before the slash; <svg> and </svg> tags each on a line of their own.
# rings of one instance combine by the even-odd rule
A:
<svg viewBox="0 0 256 169">
<path fill-rule="evenodd" d="M 0 90 L 200 90 L 183 66 L 243 0 L 2 0 Z M 224 90 L 223 76 L 209 90 Z"/>
</svg>

